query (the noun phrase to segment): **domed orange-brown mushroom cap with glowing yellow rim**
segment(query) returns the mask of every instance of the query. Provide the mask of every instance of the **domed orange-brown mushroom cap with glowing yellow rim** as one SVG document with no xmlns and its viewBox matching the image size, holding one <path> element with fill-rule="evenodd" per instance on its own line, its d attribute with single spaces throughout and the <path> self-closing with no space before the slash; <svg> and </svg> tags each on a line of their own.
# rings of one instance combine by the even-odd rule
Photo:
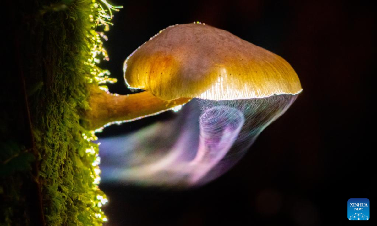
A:
<svg viewBox="0 0 377 226">
<path fill-rule="evenodd" d="M 150 38 L 124 62 L 124 78 L 131 89 L 165 100 L 250 99 L 302 91 L 283 58 L 201 23 L 170 26 Z"/>
</svg>

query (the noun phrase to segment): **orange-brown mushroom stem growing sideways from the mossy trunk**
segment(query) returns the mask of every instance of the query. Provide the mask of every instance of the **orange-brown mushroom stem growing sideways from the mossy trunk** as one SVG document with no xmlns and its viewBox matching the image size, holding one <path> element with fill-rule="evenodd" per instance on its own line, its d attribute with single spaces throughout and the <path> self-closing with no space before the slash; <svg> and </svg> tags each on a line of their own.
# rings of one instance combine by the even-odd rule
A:
<svg viewBox="0 0 377 226">
<path fill-rule="evenodd" d="M 185 104 L 191 98 L 178 98 L 170 101 L 153 96 L 150 92 L 130 95 L 114 95 L 98 86 L 90 87 L 89 106 L 81 116 L 81 125 L 95 130 L 116 121 L 132 121 L 170 110 Z"/>
</svg>

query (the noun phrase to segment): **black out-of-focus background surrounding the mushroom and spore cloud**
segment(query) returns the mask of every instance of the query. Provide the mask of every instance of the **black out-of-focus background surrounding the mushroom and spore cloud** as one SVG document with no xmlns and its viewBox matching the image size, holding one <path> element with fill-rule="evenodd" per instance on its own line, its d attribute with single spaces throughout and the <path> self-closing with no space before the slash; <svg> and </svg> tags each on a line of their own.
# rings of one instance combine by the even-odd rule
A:
<svg viewBox="0 0 377 226">
<path fill-rule="evenodd" d="M 259 136 L 246 156 L 214 182 L 189 191 L 101 184 L 109 224 L 319 225 L 347 224 L 349 198 L 371 200 L 374 212 L 374 7 L 359 1 L 113 0 L 123 5 L 105 43 L 109 69 L 127 94 L 126 57 L 159 30 L 201 21 L 287 60 L 303 92 Z M 169 113 L 106 128 L 127 133 Z M 370 222 L 369 222 L 370 223 Z"/>
</svg>

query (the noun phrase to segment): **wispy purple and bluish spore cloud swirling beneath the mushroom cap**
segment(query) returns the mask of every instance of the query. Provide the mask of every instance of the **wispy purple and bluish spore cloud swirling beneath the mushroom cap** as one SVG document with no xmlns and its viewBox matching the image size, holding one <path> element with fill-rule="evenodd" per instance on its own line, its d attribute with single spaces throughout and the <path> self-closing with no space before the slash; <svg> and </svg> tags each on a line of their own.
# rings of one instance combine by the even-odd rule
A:
<svg viewBox="0 0 377 226">
<path fill-rule="evenodd" d="M 169 187 L 204 185 L 234 166 L 296 97 L 194 98 L 170 121 L 100 139 L 101 181 Z"/>
</svg>

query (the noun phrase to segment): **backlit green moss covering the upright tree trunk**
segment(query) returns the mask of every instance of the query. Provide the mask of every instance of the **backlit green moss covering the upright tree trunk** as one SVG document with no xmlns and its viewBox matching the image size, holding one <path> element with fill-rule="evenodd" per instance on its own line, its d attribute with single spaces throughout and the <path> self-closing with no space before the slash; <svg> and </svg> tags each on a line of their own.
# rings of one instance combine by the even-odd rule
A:
<svg viewBox="0 0 377 226">
<path fill-rule="evenodd" d="M 30 216 L 32 208 L 38 205 L 28 203 L 23 186 L 36 180 L 48 225 L 101 225 L 104 219 L 101 201 L 106 198 L 97 185 L 98 146 L 92 143 L 96 139 L 93 132 L 80 126 L 79 113 L 88 108 L 87 86 L 110 81 L 109 73 L 95 63 L 107 57 L 96 30 L 99 25 L 107 29 L 106 18 L 100 14 L 109 14 L 110 9 L 104 2 L 92 0 L 15 4 L 23 4 L 18 14 L 22 27 L 17 37 L 20 42 L 15 43 L 22 51 L 16 61 L 25 80 L 32 125 L 32 134 L 25 136 L 33 140 L 29 146 L 35 151 L 30 151 L 28 145 L 23 147 L 22 139 L 11 144 L 6 140 L 0 142 L 8 150 L 5 156 L 0 156 L 3 201 L 0 224 L 34 225 Z M 2 104 L 19 103 L 17 98 L 22 95 L 15 95 L 14 100 L 2 98 Z M 18 118 L 25 118 L 25 114 L 14 116 L 16 111 L 10 107 L 2 112 L 4 117 L 15 118 L 13 124 L 12 120 L 1 124 L 2 133 L 15 126 Z M 17 134 L 11 137 L 17 138 Z M 31 153 L 34 155 L 30 156 Z M 12 156 L 14 159 L 6 161 Z M 38 175 L 30 170 L 33 156 L 37 159 Z M 8 164 L 15 161 L 18 163 L 13 166 Z M 27 210 L 24 213 L 23 208 Z"/>
</svg>

